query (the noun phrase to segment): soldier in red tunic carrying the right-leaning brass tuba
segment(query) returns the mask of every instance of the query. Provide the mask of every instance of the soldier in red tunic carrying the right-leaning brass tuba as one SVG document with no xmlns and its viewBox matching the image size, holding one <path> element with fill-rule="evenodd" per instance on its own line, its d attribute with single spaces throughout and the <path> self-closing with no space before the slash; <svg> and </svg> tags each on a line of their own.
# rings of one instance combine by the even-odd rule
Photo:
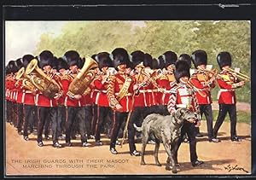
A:
<svg viewBox="0 0 256 180">
<path fill-rule="evenodd" d="M 65 106 L 67 106 L 67 122 L 66 122 L 66 145 L 72 146 L 71 133 L 75 120 L 79 123 L 79 133 L 81 136 L 82 147 L 90 146 L 87 142 L 87 135 L 85 129 L 85 110 L 82 106 L 83 95 L 74 95 L 68 90 L 69 85 L 79 73 L 79 53 L 74 50 L 69 50 L 65 53 L 64 59 L 69 66 L 69 73 L 66 80 L 62 80 L 63 94 L 65 95 Z"/>
</svg>

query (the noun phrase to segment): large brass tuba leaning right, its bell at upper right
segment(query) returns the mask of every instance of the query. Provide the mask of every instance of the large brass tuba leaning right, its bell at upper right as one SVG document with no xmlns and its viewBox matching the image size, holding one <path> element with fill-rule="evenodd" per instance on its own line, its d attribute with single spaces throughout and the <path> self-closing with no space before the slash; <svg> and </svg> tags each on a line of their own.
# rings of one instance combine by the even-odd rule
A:
<svg viewBox="0 0 256 180">
<path fill-rule="evenodd" d="M 94 69 L 98 67 L 98 64 L 90 56 L 85 55 L 84 66 L 73 79 L 68 87 L 68 94 L 70 95 L 82 95 L 84 90 L 87 89 L 91 81 L 95 78 Z"/>
</svg>

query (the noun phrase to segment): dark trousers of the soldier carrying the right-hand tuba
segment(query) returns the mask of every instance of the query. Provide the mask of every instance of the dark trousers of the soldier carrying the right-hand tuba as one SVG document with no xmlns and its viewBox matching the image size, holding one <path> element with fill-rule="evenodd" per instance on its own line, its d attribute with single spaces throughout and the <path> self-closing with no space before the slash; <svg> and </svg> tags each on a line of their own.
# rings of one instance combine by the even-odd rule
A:
<svg viewBox="0 0 256 180">
<path fill-rule="evenodd" d="M 77 119 L 77 122 L 79 123 L 81 142 L 87 142 L 84 107 L 67 107 L 66 142 L 70 142 L 71 131 L 75 119 Z"/>
</svg>

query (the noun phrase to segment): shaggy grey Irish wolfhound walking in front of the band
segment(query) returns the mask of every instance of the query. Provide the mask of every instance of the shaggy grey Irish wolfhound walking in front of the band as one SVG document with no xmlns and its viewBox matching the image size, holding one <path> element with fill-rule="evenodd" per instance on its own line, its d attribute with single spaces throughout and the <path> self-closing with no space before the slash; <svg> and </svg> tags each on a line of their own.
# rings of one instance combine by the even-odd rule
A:
<svg viewBox="0 0 256 180">
<path fill-rule="evenodd" d="M 137 131 L 143 131 L 141 165 L 146 165 L 144 160 L 145 148 L 148 142 L 148 137 L 152 133 L 155 137 L 155 164 L 160 166 L 160 162 L 158 160 L 158 150 L 160 148 L 160 142 L 163 142 L 166 153 L 168 154 L 166 170 L 171 170 L 171 162 L 172 173 L 177 173 L 177 140 L 181 136 L 181 128 L 184 120 L 187 120 L 190 123 L 195 123 L 195 113 L 186 108 L 179 108 L 173 116 L 162 116 L 157 113 L 152 113 L 143 120 L 142 127 L 137 127 L 137 125 L 134 124 Z"/>
</svg>

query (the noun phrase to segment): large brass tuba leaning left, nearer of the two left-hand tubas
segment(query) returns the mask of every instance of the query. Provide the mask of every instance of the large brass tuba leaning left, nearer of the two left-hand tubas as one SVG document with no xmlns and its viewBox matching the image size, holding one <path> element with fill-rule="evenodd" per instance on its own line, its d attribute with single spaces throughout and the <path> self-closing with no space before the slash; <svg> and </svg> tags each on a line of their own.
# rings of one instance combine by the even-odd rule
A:
<svg viewBox="0 0 256 180">
<path fill-rule="evenodd" d="M 30 76 L 32 84 L 40 90 L 44 96 L 53 98 L 61 90 L 59 84 L 54 79 L 47 76 L 42 69 L 38 67 L 38 60 L 33 59 L 26 67 L 26 75 Z"/>
</svg>

